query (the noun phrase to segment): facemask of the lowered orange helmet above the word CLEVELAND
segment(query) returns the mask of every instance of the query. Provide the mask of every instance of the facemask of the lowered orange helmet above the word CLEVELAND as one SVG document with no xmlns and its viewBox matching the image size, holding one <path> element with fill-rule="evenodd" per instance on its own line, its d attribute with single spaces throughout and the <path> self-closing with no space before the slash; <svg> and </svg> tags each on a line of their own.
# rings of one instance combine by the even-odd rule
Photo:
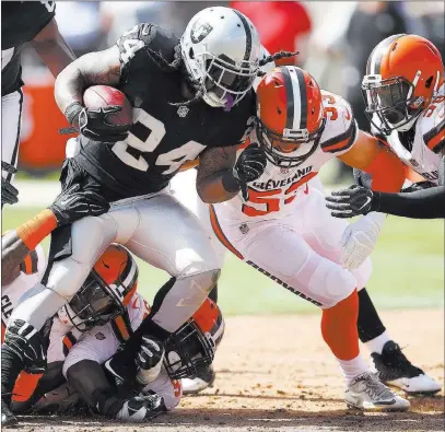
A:
<svg viewBox="0 0 445 432">
<path fill-rule="evenodd" d="M 318 129 L 309 133 L 307 129 L 286 129 L 283 135 L 276 133 L 258 119 L 257 138 L 262 145 L 268 160 L 282 168 L 292 168 L 304 163 L 317 150 L 326 119 L 323 118 Z M 281 149 L 280 149 L 281 144 Z M 295 147 L 293 151 L 283 151 L 284 145 Z"/>
</svg>

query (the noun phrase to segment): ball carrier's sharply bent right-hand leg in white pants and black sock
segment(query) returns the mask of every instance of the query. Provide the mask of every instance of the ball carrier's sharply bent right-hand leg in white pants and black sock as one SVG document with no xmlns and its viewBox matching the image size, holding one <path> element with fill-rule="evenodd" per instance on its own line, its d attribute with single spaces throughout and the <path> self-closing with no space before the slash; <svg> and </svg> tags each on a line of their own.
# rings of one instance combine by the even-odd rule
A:
<svg viewBox="0 0 445 432">
<path fill-rule="evenodd" d="M 199 308 L 220 273 L 199 221 L 174 197 L 156 196 L 136 203 L 134 208 L 140 221 L 126 246 L 172 278 L 156 293 L 150 316 L 126 343 L 120 358 L 114 357 L 114 364 L 127 366 L 139 349 L 141 336 L 165 341 Z"/>
</svg>

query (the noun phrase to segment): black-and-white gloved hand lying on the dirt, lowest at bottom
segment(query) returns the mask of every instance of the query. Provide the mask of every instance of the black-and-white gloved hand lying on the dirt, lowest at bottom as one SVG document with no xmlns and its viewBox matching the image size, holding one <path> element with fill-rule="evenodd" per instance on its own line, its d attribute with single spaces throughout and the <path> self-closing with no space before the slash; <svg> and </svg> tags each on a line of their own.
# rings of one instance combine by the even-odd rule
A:
<svg viewBox="0 0 445 432">
<path fill-rule="evenodd" d="M 164 399 L 154 392 L 141 393 L 125 401 L 116 419 L 129 422 L 152 420 L 164 412 Z"/>
</svg>

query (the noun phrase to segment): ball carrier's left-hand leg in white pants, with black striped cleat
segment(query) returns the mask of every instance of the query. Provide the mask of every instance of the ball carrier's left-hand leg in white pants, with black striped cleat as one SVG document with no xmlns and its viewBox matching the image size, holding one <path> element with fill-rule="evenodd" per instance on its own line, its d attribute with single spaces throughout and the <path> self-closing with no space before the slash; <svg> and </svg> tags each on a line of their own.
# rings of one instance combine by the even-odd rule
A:
<svg viewBox="0 0 445 432">
<path fill-rule="evenodd" d="M 43 281 L 21 297 L 8 324 L 1 350 L 1 386 L 7 398 L 22 370 L 45 370 L 48 335 L 40 330 L 45 323 L 75 294 L 94 262 L 117 238 L 118 227 L 134 230 L 137 223 L 137 212 L 129 209 L 85 218 L 54 233 Z"/>
</svg>

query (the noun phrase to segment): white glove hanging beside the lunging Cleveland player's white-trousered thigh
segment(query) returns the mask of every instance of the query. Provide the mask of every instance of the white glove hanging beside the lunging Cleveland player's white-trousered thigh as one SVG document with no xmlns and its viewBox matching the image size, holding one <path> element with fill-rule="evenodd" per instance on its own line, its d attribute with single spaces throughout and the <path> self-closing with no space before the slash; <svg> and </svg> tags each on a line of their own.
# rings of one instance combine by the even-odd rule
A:
<svg viewBox="0 0 445 432">
<path fill-rule="evenodd" d="M 377 217 L 382 213 L 368 213 L 351 223 L 341 238 L 341 265 L 348 270 L 359 268 L 374 250 L 382 224 Z"/>
</svg>

